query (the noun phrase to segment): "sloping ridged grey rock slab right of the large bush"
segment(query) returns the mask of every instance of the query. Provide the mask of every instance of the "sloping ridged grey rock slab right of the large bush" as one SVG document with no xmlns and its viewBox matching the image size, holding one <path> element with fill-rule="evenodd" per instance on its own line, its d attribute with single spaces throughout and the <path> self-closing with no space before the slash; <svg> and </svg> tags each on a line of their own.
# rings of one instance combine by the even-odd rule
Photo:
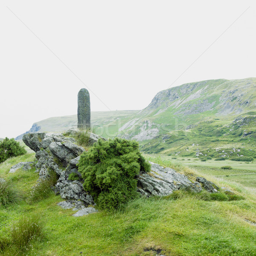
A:
<svg viewBox="0 0 256 256">
<path fill-rule="evenodd" d="M 137 177 L 137 191 L 142 195 L 166 196 L 174 190 L 188 189 L 193 192 L 202 190 L 199 183 L 192 183 L 188 177 L 174 169 L 164 168 L 157 163 L 151 163 L 151 172 L 140 173 Z"/>
</svg>

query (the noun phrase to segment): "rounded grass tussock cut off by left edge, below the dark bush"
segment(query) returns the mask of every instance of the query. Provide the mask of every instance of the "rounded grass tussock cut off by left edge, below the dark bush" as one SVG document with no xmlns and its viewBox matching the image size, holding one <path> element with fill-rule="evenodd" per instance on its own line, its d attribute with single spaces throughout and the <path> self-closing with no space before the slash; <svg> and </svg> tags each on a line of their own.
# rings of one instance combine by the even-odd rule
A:
<svg viewBox="0 0 256 256">
<path fill-rule="evenodd" d="M 13 184 L 7 181 L 0 182 L 0 206 L 16 204 L 20 199 L 21 194 L 15 189 Z"/>
</svg>

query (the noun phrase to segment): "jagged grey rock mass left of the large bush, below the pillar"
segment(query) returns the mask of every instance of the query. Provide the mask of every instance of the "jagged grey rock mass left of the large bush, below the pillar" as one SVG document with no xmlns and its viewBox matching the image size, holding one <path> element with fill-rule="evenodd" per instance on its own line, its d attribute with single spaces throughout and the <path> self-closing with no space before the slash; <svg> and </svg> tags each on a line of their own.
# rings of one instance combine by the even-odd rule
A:
<svg viewBox="0 0 256 256">
<path fill-rule="evenodd" d="M 66 133 L 75 136 L 78 130 L 71 129 Z M 95 143 L 99 136 L 90 133 L 89 143 Z M 85 205 L 94 204 L 93 198 L 88 195 L 81 183 L 82 180 L 69 180 L 71 172 L 78 172 L 77 163 L 84 148 L 75 144 L 75 139 L 65 137 L 60 133 L 32 133 L 24 134 L 24 143 L 36 152 L 36 171 L 39 172 L 39 179 L 45 179 L 49 172 L 55 172 L 59 179 L 55 185 L 55 192 L 66 200 L 81 200 Z"/>
</svg>

